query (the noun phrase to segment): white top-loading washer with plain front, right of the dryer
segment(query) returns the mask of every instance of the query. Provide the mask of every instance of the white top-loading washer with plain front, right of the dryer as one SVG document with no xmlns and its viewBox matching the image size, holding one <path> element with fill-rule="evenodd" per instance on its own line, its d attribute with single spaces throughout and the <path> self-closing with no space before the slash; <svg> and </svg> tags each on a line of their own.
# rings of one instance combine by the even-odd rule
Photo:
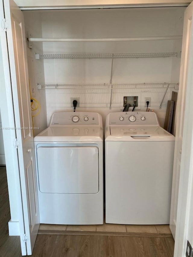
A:
<svg viewBox="0 0 193 257">
<path fill-rule="evenodd" d="M 169 224 L 175 137 L 153 112 L 106 117 L 106 223 Z"/>
</svg>

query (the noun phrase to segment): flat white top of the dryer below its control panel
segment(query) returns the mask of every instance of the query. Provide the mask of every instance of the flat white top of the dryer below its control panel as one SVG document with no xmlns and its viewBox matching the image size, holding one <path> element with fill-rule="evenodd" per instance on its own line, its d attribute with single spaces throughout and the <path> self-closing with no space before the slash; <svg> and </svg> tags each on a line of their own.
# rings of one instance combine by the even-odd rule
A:
<svg viewBox="0 0 193 257">
<path fill-rule="evenodd" d="M 50 126 L 34 137 L 35 142 L 102 141 L 103 129 L 99 126 Z"/>
</svg>

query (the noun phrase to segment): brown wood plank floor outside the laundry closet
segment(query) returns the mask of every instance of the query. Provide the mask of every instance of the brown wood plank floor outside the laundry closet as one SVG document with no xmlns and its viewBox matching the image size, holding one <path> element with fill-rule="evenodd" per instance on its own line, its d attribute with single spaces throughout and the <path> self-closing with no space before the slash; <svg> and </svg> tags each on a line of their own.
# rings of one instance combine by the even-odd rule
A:
<svg viewBox="0 0 193 257">
<path fill-rule="evenodd" d="M 0 256 L 20 257 L 20 238 L 9 237 L 10 220 L 5 169 L 0 169 Z M 121 235 L 38 234 L 34 257 L 173 257 L 174 240 L 171 235 L 152 236 L 132 233 Z"/>
</svg>

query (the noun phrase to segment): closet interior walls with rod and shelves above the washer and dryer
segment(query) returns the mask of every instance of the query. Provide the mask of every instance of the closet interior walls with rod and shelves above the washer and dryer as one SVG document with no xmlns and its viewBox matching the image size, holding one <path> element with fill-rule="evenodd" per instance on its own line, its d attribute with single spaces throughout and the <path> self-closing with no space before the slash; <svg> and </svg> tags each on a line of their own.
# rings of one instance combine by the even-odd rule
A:
<svg viewBox="0 0 193 257">
<path fill-rule="evenodd" d="M 78 100 L 76 111 L 101 114 L 104 127 L 107 114 L 123 110 L 124 96 L 137 97 L 135 111 L 146 111 L 150 98 L 149 107 L 163 127 L 167 101 L 179 88 L 184 11 L 185 7 L 23 11 L 31 96 L 41 105 L 33 118 L 33 127 L 39 128 L 34 136 L 48 126 L 53 113 L 73 111 L 73 99 Z M 39 42 L 41 38 L 53 40 Z M 55 42 L 60 38 L 69 42 Z M 103 42 L 105 38 L 112 41 Z M 131 104 L 128 111 L 132 108 Z"/>
</svg>

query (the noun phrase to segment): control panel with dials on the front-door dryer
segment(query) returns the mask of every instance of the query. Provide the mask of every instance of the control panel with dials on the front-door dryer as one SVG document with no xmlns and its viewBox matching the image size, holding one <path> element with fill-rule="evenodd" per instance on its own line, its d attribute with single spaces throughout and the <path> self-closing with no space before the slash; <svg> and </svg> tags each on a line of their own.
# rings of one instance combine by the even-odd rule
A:
<svg viewBox="0 0 193 257">
<path fill-rule="evenodd" d="M 99 125 L 99 115 L 96 112 L 56 112 L 50 119 L 53 125 Z"/>
</svg>

